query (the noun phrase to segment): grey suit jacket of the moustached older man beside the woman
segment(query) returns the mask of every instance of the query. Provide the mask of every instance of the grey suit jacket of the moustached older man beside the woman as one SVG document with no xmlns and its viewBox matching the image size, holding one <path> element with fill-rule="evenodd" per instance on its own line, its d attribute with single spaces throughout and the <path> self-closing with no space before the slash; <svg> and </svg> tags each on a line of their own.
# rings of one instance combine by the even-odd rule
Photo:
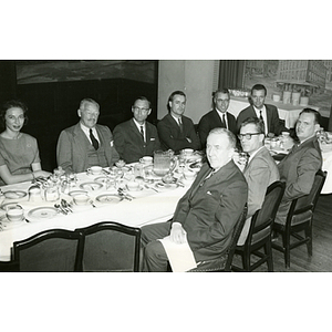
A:
<svg viewBox="0 0 332 332">
<path fill-rule="evenodd" d="M 107 126 L 96 125 L 101 146 L 105 149 L 108 166 L 118 160 L 118 154 L 113 146 L 113 136 Z M 91 143 L 81 128 L 80 123 L 60 133 L 56 146 L 56 160 L 65 172 L 85 172 L 89 168 L 86 146 Z"/>
</svg>

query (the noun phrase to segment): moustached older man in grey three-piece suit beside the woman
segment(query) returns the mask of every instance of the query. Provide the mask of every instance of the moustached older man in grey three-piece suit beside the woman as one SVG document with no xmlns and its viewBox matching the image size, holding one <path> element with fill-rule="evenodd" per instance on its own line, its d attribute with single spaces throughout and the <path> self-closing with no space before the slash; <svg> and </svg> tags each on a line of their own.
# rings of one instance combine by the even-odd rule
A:
<svg viewBox="0 0 332 332">
<path fill-rule="evenodd" d="M 66 173 L 85 172 L 91 166 L 112 166 L 118 160 L 107 126 L 96 124 L 100 105 L 84 98 L 77 111 L 81 121 L 62 131 L 56 146 L 58 166 Z"/>
</svg>

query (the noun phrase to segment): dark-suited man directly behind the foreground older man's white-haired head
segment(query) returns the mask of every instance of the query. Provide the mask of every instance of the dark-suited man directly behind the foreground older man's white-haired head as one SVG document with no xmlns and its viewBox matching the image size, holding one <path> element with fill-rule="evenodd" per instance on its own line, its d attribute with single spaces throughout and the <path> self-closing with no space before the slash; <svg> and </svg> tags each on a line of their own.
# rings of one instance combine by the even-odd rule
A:
<svg viewBox="0 0 332 332">
<path fill-rule="evenodd" d="M 237 123 L 232 114 L 227 112 L 230 102 L 228 89 L 220 89 L 214 95 L 214 110 L 205 114 L 198 123 L 198 135 L 201 147 L 206 145 L 206 138 L 212 128 L 227 128 L 237 134 Z"/>
</svg>

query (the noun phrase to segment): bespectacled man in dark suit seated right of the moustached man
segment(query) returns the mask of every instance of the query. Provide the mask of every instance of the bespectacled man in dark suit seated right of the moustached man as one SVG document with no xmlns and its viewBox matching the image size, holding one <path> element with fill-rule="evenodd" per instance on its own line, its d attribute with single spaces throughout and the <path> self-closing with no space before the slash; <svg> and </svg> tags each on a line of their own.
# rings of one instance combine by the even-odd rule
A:
<svg viewBox="0 0 332 332">
<path fill-rule="evenodd" d="M 118 124 L 114 131 L 114 144 L 120 157 L 126 163 L 138 162 L 143 156 L 153 156 L 160 149 L 157 128 L 146 121 L 151 102 L 139 96 L 132 106 L 133 118 Z"/>
</svg>

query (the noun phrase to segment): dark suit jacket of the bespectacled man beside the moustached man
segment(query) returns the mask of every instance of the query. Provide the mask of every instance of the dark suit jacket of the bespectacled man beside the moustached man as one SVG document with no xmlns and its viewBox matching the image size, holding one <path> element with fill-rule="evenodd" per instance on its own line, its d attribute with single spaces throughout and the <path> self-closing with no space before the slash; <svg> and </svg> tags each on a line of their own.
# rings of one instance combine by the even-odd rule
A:
<svg viewBox="0 0 332 332">
<path fill-rule="evenodd" d="M 145 131 L 146 142 L 144 142 L 133 118 L 114 128 L 115 148 L 120 157 L 126 163 L 138 162 L 144 156 L 153 156 L 154 151 L 160 149 L 157 128 L 145 122 Z"/>
</svg>

